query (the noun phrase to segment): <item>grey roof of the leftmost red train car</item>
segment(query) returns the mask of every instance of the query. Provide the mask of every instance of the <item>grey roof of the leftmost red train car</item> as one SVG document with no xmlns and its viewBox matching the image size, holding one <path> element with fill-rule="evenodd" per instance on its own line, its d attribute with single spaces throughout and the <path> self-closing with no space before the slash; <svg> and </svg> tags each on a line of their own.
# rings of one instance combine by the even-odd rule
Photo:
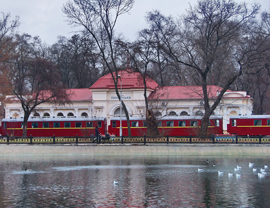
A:
<svg viewBox="0 0 270 208">
<path fill-rule="evenodd" d="M 49 121 L 100 121 L 107 120 L 106 117 L 72 117 L 72 118 L 32 118 L 29 117 L 27 122 L 49 122 Z M 2 122 L 23 122 L 23 118 L 4 118 Z"/>
</svg>

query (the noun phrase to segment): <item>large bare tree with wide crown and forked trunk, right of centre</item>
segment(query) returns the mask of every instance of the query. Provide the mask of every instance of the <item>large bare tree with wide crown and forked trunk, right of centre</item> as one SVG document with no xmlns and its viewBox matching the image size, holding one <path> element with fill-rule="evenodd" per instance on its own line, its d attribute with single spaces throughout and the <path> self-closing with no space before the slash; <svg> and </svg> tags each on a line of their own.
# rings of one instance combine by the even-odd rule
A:
<svg viewBox="0 0 270 208">
<path fill-rule="evenodd" d="M 226 90 L 250 70 L 250 62 L 257 62 L 259 54 L 269 50 L 262 47 L 270 33 L 267 18 L 261 24 L 257 21 L 259 8 L 258 4 L 249 8 L 245 2 L 200 0 L 178 21 L 172 21 L 176 26 L 174 39 L 168 39 L 163 33 L 164 50 L 179 64 L 185 65 L 191 78 L 202 87 L 205 112 L 201 134 L 207 133 L 209 116 Z M 159 13 L 149 16 L 161 32 L 162 16 Z M 210 99 L 208 86 L 214 77 L 222 90 Z"/>
</svg>

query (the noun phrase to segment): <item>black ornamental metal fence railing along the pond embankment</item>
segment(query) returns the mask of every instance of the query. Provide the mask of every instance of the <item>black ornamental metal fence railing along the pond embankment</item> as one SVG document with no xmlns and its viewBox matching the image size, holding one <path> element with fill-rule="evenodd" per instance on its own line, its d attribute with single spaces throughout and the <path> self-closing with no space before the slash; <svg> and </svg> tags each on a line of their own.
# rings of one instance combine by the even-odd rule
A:
<svg viewBox="0 0 270 208">
<path fill-rule="evenodd" d="M 0 144 L 81 144 L 81 143 L 244 143 L 270 144 L 270 136 L 122 136 L 122 137 L 0 137 Z"/>
</svg>

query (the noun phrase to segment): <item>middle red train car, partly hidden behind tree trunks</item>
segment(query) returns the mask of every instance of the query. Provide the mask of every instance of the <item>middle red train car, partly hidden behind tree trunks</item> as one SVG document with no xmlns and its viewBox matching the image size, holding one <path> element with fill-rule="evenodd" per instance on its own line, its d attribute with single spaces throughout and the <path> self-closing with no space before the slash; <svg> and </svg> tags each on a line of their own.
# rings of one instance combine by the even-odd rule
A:
<svg viewBox="0 0 270 208">
<path fill-rule="evenodd" d="M 201 125 L 201 116 L 166 116 L 158 121 L 158 130 L 161 135 L 166 136 L 189 136 L 198 135 L 198 127 Z M 208 123 L 211 134 L 222 134 L 222 116 L 211 116 Z M 119 135 L 120 118 L 110 119 L 109 133 Z M 147 135 L 146 122 L 140 117 L 130 117 L 132 136 Z M 122 118 L 122 134 L 128 135 L 127 120 Z"/>
</svg>

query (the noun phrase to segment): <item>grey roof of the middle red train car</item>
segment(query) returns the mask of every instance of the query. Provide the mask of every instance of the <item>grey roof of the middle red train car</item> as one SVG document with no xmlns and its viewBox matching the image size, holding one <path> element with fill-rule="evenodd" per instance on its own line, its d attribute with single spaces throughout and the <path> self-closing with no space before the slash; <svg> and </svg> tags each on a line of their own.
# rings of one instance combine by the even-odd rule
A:
<svg viewBox="0 0 270 208">
<path fill-rule="evenodd" d="M 159 120 L 192 120 L 192 119 L 200 120 L 202 118 L 203 118 L 202 116 L 164 116 Z M 210 116 L 210 119 L 222 119 L 222 116 L 212 115 Z M 110 120 L 120 120 L 120 117 L 112 117 L 110 118 Z M 122 117 L 122 120 L 127 120 L 127 118 Z M 129 117 L 129 120 L 145 120 L 145 118 L 140 116 L 132 116 Z"/>
</svg>

